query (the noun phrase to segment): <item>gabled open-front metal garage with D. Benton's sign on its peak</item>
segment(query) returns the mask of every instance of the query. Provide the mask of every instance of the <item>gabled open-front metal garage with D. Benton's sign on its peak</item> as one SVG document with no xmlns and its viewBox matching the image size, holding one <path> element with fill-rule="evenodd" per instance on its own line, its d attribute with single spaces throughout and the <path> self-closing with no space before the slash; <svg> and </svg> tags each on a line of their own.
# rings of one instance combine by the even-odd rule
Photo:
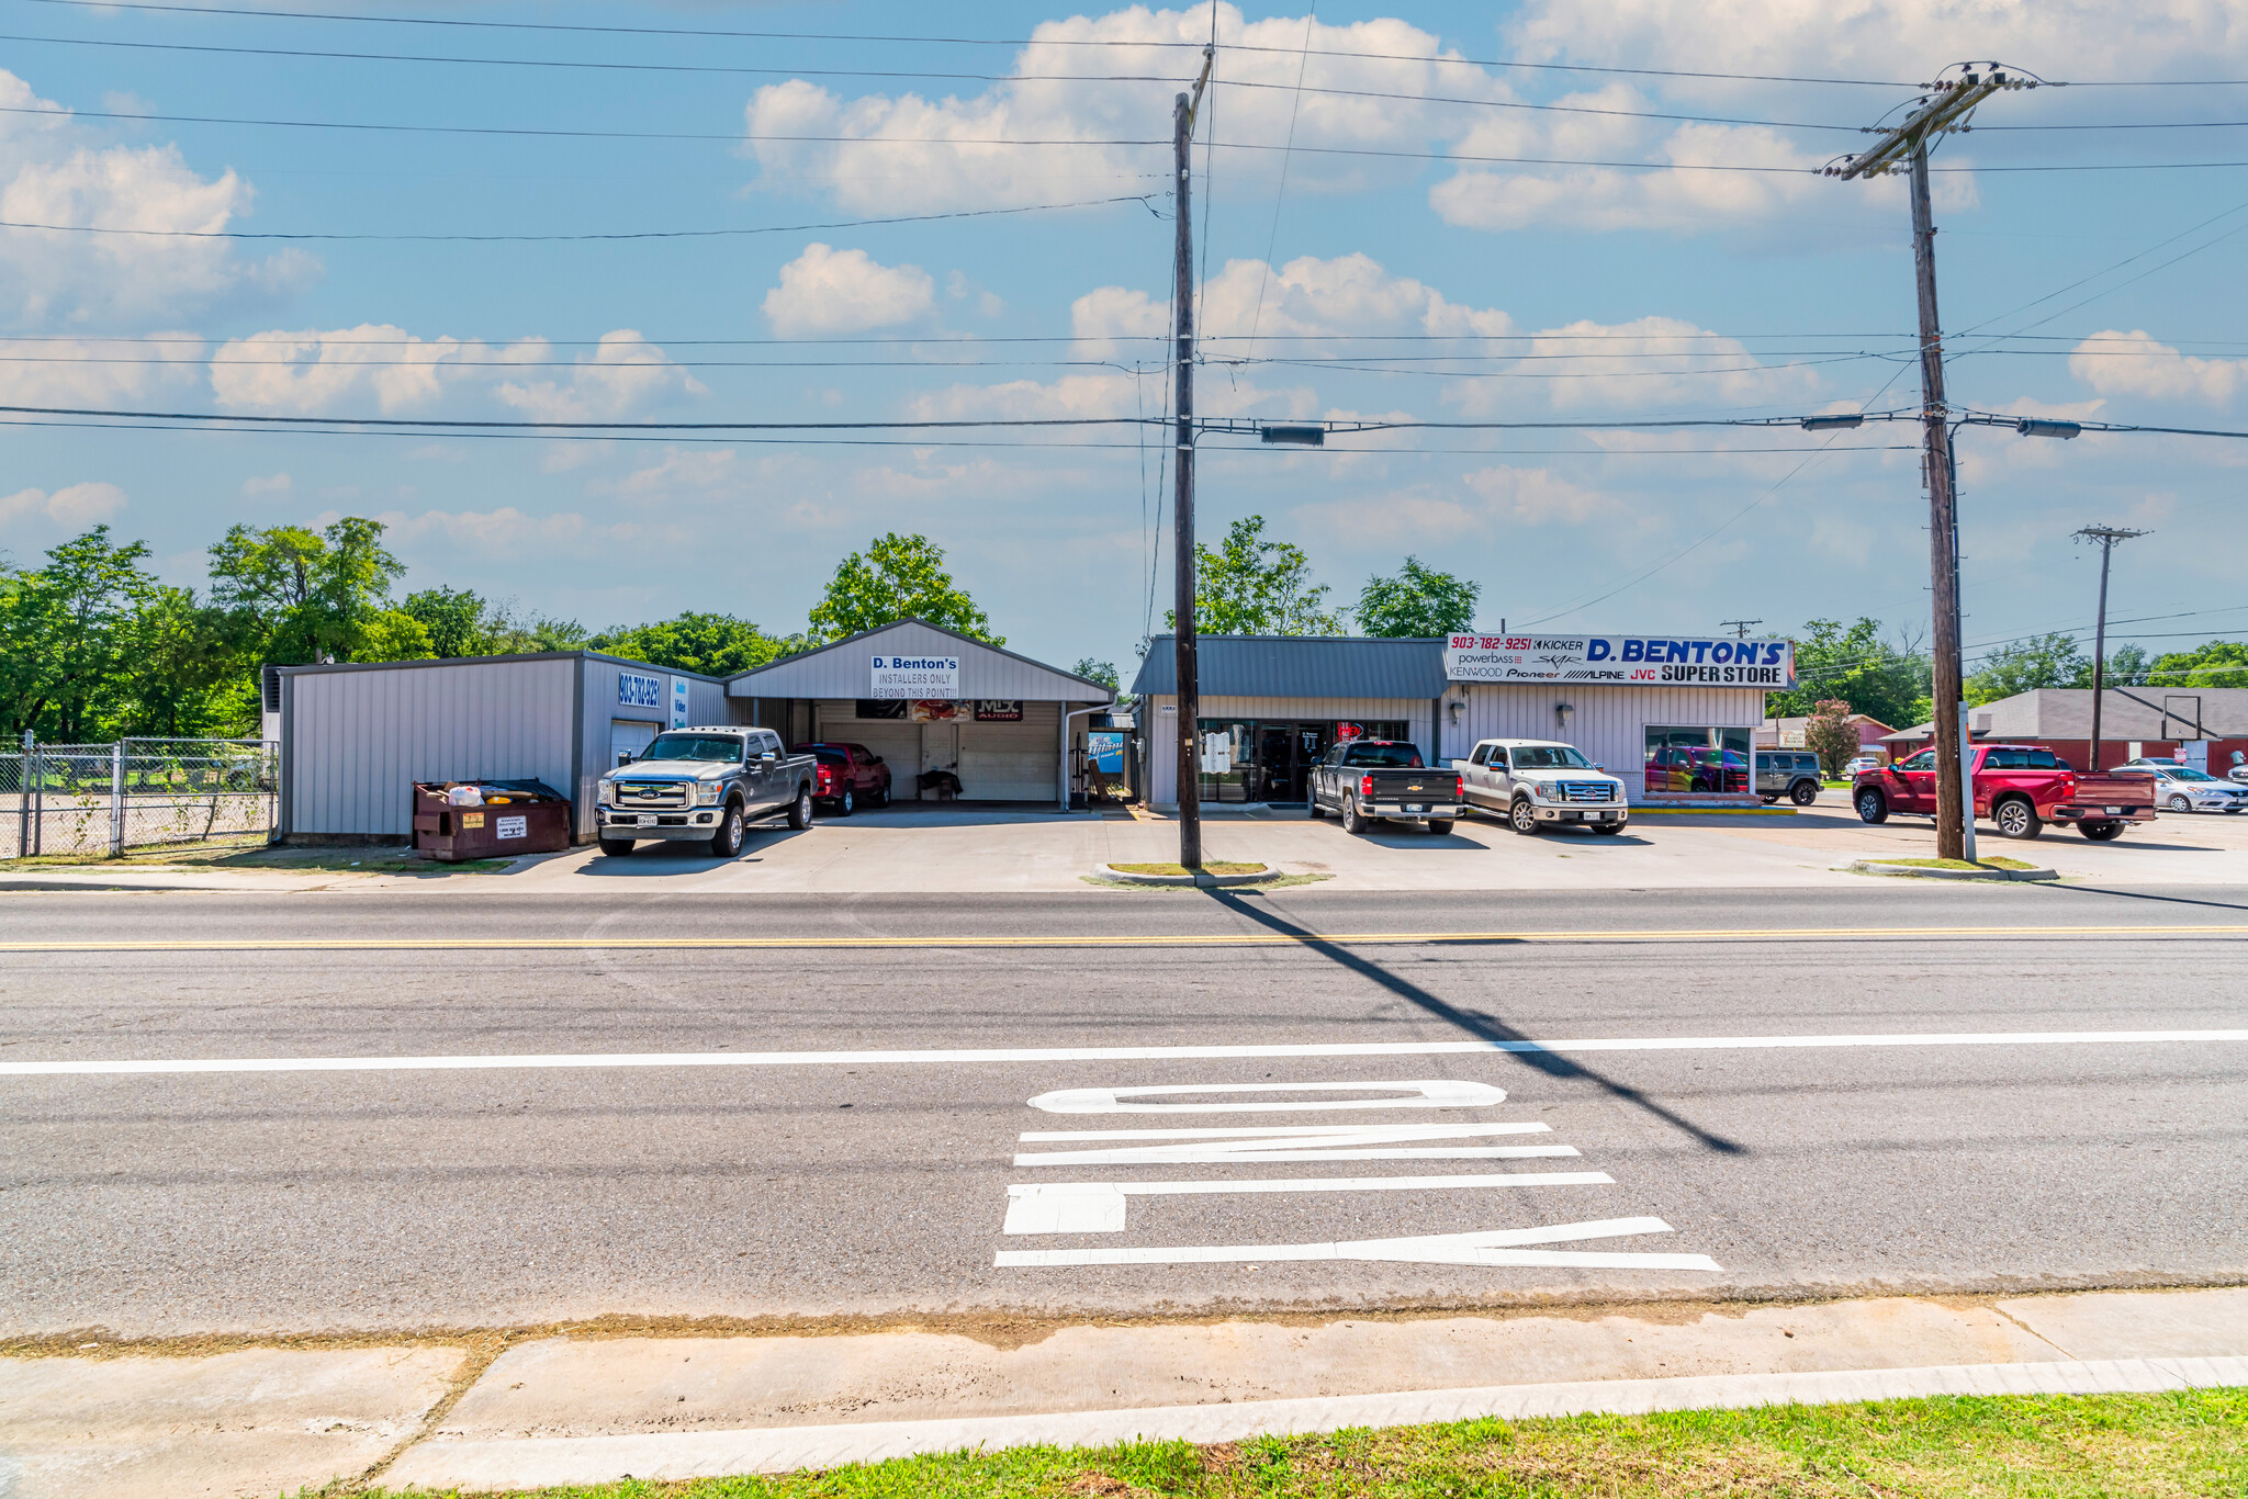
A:
<svg viewBox="0 0 2248 1499">
<path fill-rule="evenodd" d="M 892 800 L 949 771 L 971 802 L 1070 805 L 1086 719 L 1115 692 L 964 634 L 899 620 L 735 676 L 742 717 L 789 744 L 863 744 Z"/>
</svg>

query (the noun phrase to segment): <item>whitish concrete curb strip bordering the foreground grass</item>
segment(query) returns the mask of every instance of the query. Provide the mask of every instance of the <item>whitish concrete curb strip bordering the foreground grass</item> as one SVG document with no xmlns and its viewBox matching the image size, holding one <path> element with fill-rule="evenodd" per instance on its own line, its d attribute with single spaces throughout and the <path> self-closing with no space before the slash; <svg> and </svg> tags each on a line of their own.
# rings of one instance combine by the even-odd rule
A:
<svg viewBox="0 0 2248 1499">
<path fill-rule="evenodd" d="M 2248 1384 L 2248 1357 L 2070 1360 L 2059 1364 L 1936 1364 L 1924 1369 L 1834 1369 L 1814 1373 L 1720 1373 L 1569 1384 L 1493 1384 L 1387 1396 L 1313 1396 L 1164 1405 L 1041 1416 L 872 1420 L 863 1425 L 753 1427 L 634 1436 L 434 1438 L 407 1447 L 382 1474 L 396 1488 L 515 1490 L 636 1479 L 715 1479 L 879 1463 L 924 1452 L 1124 1441 L 1225 1443 L 1250 1436 L 1394 1427 L 1497 1416 L 1641 1416 L 1648 1411 L 1744 1409 L 1913 1400 L 1927 1396 L 2122 1396 Z"/>
</svg>

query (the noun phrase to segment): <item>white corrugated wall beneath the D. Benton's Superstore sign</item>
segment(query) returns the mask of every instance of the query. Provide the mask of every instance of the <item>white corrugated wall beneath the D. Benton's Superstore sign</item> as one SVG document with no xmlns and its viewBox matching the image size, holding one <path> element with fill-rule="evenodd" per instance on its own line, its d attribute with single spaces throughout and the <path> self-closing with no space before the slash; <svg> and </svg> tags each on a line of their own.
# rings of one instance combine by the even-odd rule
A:
<svg viewBox="0 0 2248 1499">
<path fill-rule="evenodd" d="M 1477 739 L 1562 739 L 1621 775 L 1634 805 L 1646 796 L 1641 773 L 1650 724 L 1753 730 L 1765 721 L 1765 694 L 1753 688 L 1466 685 L 1459 724 L 1443 728 L 1445 760 L 1466 760 Z M 1556 703 L 1569 703 L 1567 721 L 1556 717 Z"/>
</svg>

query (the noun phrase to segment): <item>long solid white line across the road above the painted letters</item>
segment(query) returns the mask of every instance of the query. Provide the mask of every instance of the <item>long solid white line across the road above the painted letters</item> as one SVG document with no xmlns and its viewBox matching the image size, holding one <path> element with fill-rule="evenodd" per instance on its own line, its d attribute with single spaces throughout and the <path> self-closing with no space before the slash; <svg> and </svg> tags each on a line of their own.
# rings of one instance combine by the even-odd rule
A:
<svg viewBox="0 0 2248 1499">
<path fill-rule="evenodd" d="M 1843 1036 L 1623 1036 L 1580 1041 L 1338 1041 L 1230 1047 L 960 1047 L 917 1052 L 551 1052 L 508 1056 L 187 1056 L 0 1061 L 0 1076 L 178 1072 L 481 1072 L 528 1068 L 931 1068 L 967 1063 L 1230 1061 L 1286 1056 L 1475 1056 L 1493 1052 L 1767 1052 L 1821 1047 L 2208 1045 L 2248 1029 L 2192 1032 L 1900 1032 Z"/>
</svg>

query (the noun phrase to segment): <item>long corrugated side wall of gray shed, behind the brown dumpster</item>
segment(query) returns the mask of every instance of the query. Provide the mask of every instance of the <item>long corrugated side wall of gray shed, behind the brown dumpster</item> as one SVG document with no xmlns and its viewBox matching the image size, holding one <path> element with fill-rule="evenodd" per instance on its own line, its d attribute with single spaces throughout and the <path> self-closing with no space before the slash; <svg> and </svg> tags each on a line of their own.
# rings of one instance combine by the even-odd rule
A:
<svg viewBox="0 0 2248 1499">
<path fill-rule="evenodd" d="M 306 672 L 285 681 L 285 834 L 405 838 L 416 780 L 535 775 L 558 791 L 571 784 L 575 661 Z"/>
</svg>

